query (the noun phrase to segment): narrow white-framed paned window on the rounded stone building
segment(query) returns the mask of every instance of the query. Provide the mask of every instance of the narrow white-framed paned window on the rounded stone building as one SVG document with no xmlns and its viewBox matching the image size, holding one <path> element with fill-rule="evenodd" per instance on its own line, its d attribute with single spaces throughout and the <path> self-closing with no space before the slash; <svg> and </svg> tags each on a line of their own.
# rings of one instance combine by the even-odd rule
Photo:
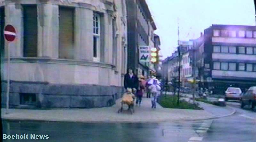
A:
<svg viewBox="0 0 256 142">
<path fill-rule="evenodd" d="M 93 13 L 93 61 L 100 61 L 100 15 Z"/>
</svg>

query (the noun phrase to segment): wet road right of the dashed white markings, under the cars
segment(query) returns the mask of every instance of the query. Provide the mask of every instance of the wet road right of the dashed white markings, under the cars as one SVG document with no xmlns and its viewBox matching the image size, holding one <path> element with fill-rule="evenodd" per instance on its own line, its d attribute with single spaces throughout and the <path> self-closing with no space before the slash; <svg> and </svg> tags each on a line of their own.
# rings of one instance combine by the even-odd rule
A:
<svg viewBox="0 0 256 142">
<path fill-rule="evenodd" d="M 203 142 L 256 142 L 256 108 L 240 108 L 238 101 L 227 105 L 236 109 L 232 116 L 215 119 L 206 134 L 201 135 Z"/>
</svg>

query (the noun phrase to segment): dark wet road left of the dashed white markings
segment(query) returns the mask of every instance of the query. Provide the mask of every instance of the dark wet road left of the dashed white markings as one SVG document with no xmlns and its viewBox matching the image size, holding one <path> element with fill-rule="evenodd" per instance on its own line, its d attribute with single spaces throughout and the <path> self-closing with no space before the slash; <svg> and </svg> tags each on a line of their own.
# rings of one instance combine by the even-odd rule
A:
<svg viewBox="0 0 256 142">
<path fill-rule="evenodd" d="M 166 123 L 3 122 L 4 134 L 49 135 L 51 142 L 187 142 L 204 121 Z M 39 141 L 19 139 L 7 141 Z"/>
</svg>

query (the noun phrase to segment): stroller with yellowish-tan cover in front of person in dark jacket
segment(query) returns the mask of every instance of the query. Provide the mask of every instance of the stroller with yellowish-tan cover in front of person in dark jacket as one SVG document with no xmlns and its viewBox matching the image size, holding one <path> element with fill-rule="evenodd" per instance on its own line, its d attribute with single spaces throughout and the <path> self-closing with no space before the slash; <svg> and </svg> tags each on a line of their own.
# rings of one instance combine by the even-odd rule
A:
<svg viewBox="0 0 256 142">
<path fill-rule="evenodd" d="M 131 114 L 134 113 L 134 100 L 135 100 L 135 95 L 132 93 L 132 89 L 127 88 L 127 92 L 123 94 L 122 100 L 121 100 L 121 108 L 118 110 L 117 113 L 120 113 L 123 111 L 123 105 L 127 104 Z M 128 110 L 129 110 L 128 109 Z"/>
</svg>

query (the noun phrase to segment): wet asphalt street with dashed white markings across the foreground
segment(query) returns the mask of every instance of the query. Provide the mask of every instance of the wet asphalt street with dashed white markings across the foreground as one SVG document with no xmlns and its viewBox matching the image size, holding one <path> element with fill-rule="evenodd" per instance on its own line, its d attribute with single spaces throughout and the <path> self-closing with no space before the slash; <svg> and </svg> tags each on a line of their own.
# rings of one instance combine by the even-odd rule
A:
<svg viewBox="0 0 256 142">
<path fill-rule="evenodd" d="M 228 102 L 237 112 L 213 120 L 172 121 L 161 123 L 67 123 L 38 121 L 3 121 L 7 135 L 49 135 L 49 139 L 4 139 L 49 142 L 254 142 L 256 111 L 241 109 Z M 175 115 L 175 114 L 174 114 Z"/>
</svg>

